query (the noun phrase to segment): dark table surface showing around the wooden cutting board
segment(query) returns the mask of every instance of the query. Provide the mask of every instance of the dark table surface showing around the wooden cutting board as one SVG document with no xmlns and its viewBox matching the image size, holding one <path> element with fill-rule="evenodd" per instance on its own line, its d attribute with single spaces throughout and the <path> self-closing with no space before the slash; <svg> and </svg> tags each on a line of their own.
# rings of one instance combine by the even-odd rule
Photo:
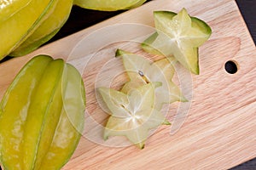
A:
<svg viewBox="0 0 256 170">
<path fill-rule="evenodd" d="M 236 0 L 238 7 L 241 10 L 241 14 L 247 24 L 254 43 L 256 42 L 256 0 Z M 67 23 L 61 28 L 55 37 L 49 42 L 53 42 L 62 37 L 67 37 L 77 31 L 83 30 L 89 26 L 93 26 L 102 20 L 107 20 L 116 14 L 120 14 L 123 11 L 117 12 L 102 12 L 88 10 L 79 7 L 73 7 L 71 15 L 67 20 Z M 253 150 L 256 152 L 256 150 Z M 1 167 L 0 167 L 1 169 Z M 231 168 L 231 170 L 256 170 L 256 158 L 244 162 L 241 165 Z"/>
</svg>

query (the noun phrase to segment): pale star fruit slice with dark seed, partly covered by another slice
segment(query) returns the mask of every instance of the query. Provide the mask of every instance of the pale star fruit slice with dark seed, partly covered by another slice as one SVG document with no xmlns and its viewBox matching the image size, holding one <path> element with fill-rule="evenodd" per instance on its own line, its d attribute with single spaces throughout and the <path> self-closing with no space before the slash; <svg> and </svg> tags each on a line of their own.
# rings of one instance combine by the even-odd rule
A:
<svg viewBox="0 0 256 170">
<path fill-rule="evenodd" d="M 155 109 L 160 110 L 163 104 L 171 104 L 175 101 L 187 101 L 180 89 L 172 82 L 174 75 L 173 62 L 175 59 L 160 59 L 152 63 L 143 56 L 131 54 L 118 49 L 118 56 L 122 57 L 125 71 L 127 71 L 130 82 L 126 82 L 122 92 L 128 93 L 132 88 L 158 82 L 155 88 Z"/>
</svg>

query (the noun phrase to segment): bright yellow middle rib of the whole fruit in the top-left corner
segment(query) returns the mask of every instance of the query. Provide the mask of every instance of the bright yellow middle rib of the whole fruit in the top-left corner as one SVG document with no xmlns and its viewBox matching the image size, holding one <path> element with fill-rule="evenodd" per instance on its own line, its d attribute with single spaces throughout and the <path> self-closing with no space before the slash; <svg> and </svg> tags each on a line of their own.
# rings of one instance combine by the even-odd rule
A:
<svg viewBox="0 0 256 170">
<path fill-rule="evenodd" d="M 0 59 L 11 53 L 51 14 L 56 0 L 32 0 L 0 24 Z"/>
</svg>

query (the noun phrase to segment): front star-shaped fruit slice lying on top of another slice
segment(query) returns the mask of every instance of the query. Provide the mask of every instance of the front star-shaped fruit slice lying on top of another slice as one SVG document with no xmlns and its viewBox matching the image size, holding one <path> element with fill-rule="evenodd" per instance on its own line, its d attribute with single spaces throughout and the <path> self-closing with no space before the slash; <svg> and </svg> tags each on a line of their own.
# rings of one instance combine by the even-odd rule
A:
<svg viewBox="0 0 256 170">
<path fill-rule="evenodd" d="M 160 111 L 154 109 L 154 85 L 148 83 L 131 89 L 128 94 L 112 88 L 98 88 L 111 116 L 104 131 L 109 136 L 126 136 L 141 149 L 148 138 L 148 131 L 161 124 L 170 125 Z"/>
</svg>

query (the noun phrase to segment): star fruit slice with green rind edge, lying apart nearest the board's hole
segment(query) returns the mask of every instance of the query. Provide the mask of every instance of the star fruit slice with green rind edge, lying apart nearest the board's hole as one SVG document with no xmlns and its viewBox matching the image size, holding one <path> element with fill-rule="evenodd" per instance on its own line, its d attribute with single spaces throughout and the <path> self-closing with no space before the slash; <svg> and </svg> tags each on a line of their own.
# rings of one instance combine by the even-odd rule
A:
<svg viewBox="0 0 256 170">
<path fill-rule="evenodd" d="M 152 54 L 173 55 L 189 71 L 199 74 L 198 48 L 211 36 L 210 26 L 190 17 L 185 8 L 178 14 L 154 11 L 154 24 L 156 32 L 142 43 L 142 48 Z"/>
</svg>

